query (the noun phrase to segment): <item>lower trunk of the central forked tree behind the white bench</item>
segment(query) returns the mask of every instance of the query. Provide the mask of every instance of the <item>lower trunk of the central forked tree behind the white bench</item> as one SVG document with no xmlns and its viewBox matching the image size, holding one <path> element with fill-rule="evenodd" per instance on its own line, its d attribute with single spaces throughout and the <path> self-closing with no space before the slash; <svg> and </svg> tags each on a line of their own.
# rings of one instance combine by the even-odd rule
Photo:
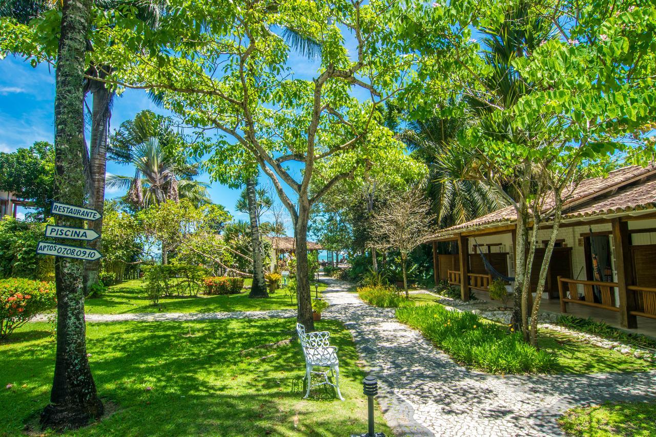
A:
<svg viewBox="0 0 656 437">
<path fill-rule="evenodd" d="M 304 325 L 307 331 L 314 331 L 312 319 L 312 295 L 310 294 L 310 272 L 308 269 L 308 219 L 310 218 L 310 205 L 307 199 L 298 201 L 298 218 L 294 224 L 294 238 L 296 242 L 296 281 L 298 323 Z"/>
</svg>

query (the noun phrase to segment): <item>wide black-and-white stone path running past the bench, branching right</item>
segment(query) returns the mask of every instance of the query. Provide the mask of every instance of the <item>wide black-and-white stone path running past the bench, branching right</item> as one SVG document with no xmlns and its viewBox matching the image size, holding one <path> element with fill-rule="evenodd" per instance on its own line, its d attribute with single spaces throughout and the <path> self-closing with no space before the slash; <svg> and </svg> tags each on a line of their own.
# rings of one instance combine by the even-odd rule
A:
<svg viewBox="0 0 656 437">
<path fill-rule="evenodd" d="M 465 369 L 419 331 L 322 278 L 325 316 L 350 329 L 395 432 L 412 436 L 560 436 L 556 419 L 571 407 L 656 396 L 656 371 L 596 375 L 486 375 Z"/>
</svg>

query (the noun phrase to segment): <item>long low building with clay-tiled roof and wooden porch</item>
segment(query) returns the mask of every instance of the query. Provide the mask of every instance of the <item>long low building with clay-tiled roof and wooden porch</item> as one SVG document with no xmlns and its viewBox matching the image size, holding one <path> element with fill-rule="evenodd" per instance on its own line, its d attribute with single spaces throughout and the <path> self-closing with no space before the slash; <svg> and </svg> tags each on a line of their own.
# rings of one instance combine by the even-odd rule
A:
<svg viewBox="0 0 656 437">
<path fill-rule="evenodd" d="M 512 280 L 516 221 L 511 206 L 436 232 L 426 241 L 435 251 L 435 280 L 459 285 L 464 299 L 495 277 Z M 547 219 L 538 230 L 534 288 L 551 228 Z M 654 262 L 656 167 L 623 167 L 583 180 L 565 196 L 543 297 L 562 312 L 584 306 L 619 313 L 624 327 L 636 327 L 636 316 L 656 327 Z"/>
</svg>

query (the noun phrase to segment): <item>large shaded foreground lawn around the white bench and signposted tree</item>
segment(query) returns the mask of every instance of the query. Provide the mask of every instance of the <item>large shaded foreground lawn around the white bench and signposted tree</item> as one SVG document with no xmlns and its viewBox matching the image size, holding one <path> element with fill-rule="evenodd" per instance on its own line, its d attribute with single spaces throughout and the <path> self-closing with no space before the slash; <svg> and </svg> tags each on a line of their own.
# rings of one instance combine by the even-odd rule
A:
<svg viewBox="0 0 656 437">
<path fill-rule="evenodd" d="M 360 434 L 367 429 L 364 373 L 350 333 L 338 322 L 322 321 L 317 327 L 331 331 L 339 347 L 346 402 L 323 387 L 302 399 L 304 362 L 298 341 L 257 347 L 291 338 L 293 320 L 87 323 L 98 393 L 115 411 L 67 434 Z M 55 343 L 48 329 L 47 323 L 28 323 L 10 343 L 0 343 L 0 435 L 21 434 L 49 400 Z M 6 389 L 7 384 L 12 388 Z M 377 431 L 392 435 L 378 410 Z"/>
</svg>

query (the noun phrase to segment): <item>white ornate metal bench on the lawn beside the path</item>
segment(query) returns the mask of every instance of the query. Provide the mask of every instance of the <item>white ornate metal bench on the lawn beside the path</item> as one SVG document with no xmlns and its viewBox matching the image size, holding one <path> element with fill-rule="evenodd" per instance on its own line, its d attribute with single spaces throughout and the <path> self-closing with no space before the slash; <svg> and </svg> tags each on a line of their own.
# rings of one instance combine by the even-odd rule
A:
<svg viewBox="0 0 656 437">
<path fill-rule="evenodd" d="M 320 385 L 331 385 L 337 390 L 337 396 L 340 400 L 342 394 L 339 391 L 339 360 L 337 358 L 337 346 L 330 345 L 330 333 L 323 332 L 305 332 L 305 327 L 297 323 L 296 331 L 300 345 L 303 348 L 305 356 L 305 379 L 308 384 L 308 390 L 303 399 L 310 396 L 310 388 Z M 314 367 L 330 367 L 330 372 L 335 378 L 335 384 L 328 379 L 328 371 L 314 371 Z M 312 385 L 312 374 L 323 377 L 321 383 Z"/>
</svg>

